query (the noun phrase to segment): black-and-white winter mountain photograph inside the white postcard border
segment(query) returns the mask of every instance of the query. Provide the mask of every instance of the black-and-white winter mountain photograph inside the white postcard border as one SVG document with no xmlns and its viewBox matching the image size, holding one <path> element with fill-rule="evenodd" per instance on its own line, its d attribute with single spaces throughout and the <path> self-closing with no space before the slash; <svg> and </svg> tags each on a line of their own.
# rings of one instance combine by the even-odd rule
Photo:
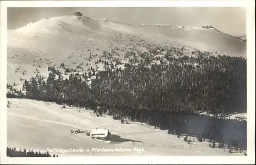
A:
<svg viewBox="0 0 256 165">
<path fill-rule="evenodd" d="M 5 8 L 5 157 L 255 162 L 246 6 L 58 4 Z"/>
</svg>

